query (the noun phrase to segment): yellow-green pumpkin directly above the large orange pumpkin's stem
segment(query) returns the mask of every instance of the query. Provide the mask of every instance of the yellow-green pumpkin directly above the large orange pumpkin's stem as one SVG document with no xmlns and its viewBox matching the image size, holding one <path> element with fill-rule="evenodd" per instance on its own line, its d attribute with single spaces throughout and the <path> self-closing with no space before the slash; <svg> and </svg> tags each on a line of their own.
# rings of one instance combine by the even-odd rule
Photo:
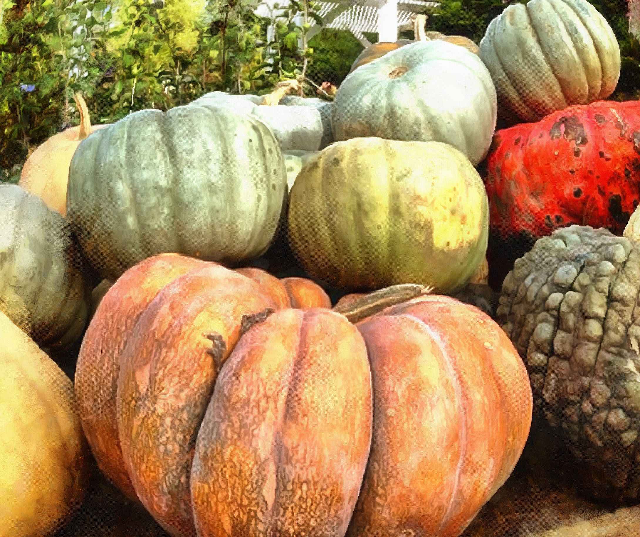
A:
<svg viewBox="0 0 640 537">
<path fill-rule="evenodd" d="M 486 254 L 488 201 L 476 169 L 447 144 L 356 138 L 300 171 L 287 231 L 300 264 L 327 286 L 451 293 Z"/>
</svg>

